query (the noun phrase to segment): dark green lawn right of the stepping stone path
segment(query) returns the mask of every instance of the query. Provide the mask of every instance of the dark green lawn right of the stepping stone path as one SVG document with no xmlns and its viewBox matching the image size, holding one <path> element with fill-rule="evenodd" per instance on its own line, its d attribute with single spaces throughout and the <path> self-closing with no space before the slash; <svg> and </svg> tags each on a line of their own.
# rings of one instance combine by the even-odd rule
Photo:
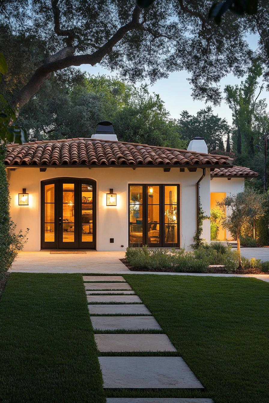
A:
<svg viewBox="0 0 269 403">
<path fill-rule="evenodd" d="M 154 274 L 124 278 L 205 386 L 206 391 L 196 397 L 211 397 L 215 403 L 269 401 L 267 283 L 252 278 Z M 169 393 L 161 395 L 188 396 L 187 392 Z M 190 395 L 194 397 L 193 392 Z M 121 396 L 131 395 L 122 391 Z"/>
</svg>

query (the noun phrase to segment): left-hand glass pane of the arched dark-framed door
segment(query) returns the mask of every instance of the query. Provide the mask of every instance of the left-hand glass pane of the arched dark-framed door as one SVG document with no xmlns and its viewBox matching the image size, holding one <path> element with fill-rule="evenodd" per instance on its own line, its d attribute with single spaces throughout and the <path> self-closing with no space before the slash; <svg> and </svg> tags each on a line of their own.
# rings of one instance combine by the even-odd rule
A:
<svg viewBox="0 0 269 403">
<path fill-rule="evenodd" d="M 54 183 L 45 185 L 45 242 L 54 242 Z"/>
</svg>

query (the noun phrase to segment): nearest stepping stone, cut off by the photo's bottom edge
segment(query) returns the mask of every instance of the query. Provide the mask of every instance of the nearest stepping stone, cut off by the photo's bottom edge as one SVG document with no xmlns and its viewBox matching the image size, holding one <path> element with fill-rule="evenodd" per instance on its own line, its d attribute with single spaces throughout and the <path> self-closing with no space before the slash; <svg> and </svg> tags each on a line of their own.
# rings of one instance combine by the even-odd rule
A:
<svg viewBox="0 0 269 403">
<path fill-rule="evenodd" d="M 212 399 L 201 399 L 201 398 L 189 398 L 189 397 L 179 397 L 179 398 L 154 398 L 154 397 L 107 397 L 106 403 L 214 403 Z"/>
</svg>

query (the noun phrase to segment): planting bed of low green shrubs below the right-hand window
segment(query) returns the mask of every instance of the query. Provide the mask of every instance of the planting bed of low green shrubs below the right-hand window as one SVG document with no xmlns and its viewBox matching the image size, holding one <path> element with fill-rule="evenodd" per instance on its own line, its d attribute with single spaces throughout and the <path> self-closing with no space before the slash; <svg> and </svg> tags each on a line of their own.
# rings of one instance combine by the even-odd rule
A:
<svg viewBox="0 0 269 403">
<path fill-rule="evenodd" d="M 194 251 L 184 249 L 149 249 L 128 247 L 121 262 L 132 271 L 223 273 L 223 274 L 268 274 L 269 262 L 260 259 L 242 259 L 239 267 L 237 250 L 220 242 L 200 245 Z"/>
</svg>

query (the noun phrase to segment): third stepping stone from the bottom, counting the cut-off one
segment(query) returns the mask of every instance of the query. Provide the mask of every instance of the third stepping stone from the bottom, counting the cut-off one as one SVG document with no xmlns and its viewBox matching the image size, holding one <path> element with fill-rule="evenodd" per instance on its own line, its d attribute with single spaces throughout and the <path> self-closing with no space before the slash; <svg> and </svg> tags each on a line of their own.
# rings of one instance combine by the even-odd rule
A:
<svg viewBox="0 0 269 403">
<path fill-rule="evenodd" d="M 166 334 L 94 334 L 99 351 L 177 351 Z"/>
</svg>

